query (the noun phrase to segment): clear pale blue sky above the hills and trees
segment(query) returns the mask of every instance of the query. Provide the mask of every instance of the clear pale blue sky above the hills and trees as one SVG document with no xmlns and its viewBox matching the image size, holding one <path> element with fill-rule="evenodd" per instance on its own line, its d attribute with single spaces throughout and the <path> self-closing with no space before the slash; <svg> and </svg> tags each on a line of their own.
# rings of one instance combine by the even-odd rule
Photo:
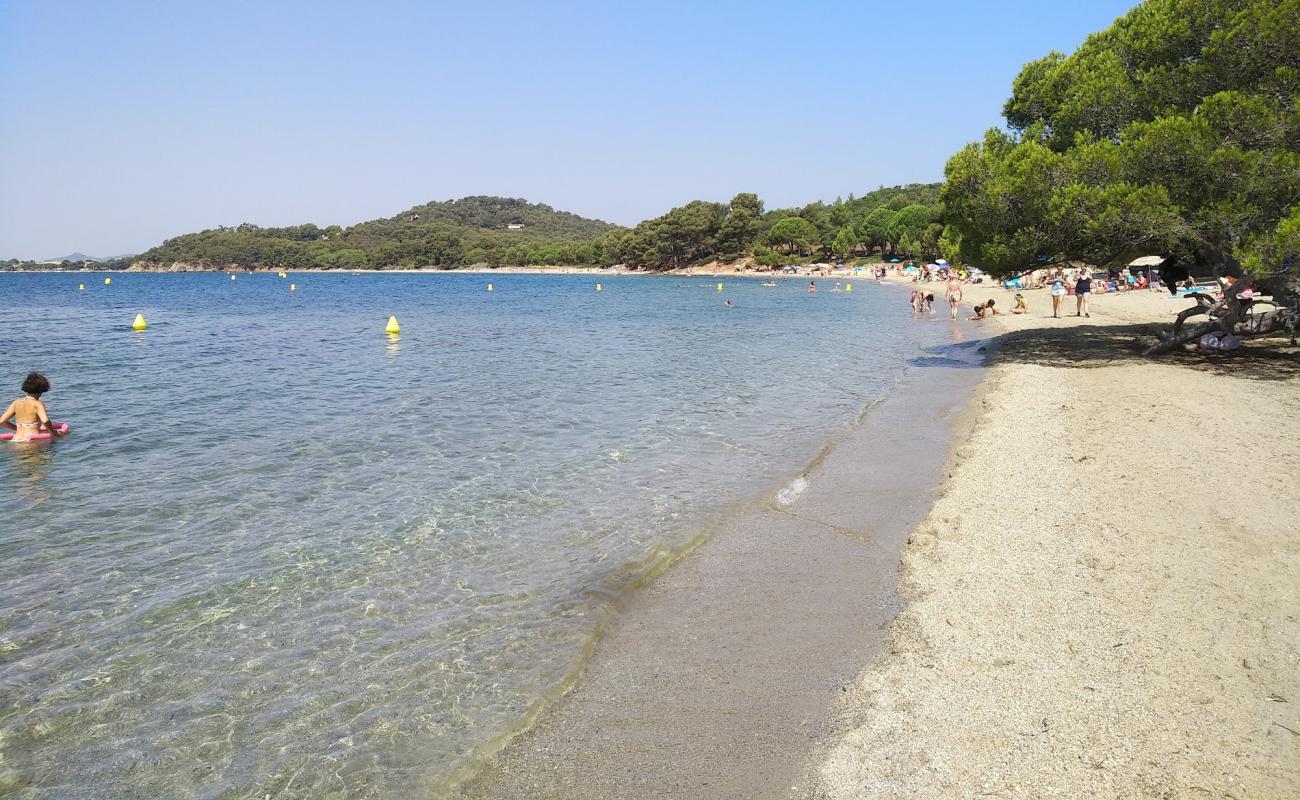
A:
<svg viewBox="0 0 1300 800">
<path fill-rule="evenodd" d="M 942 178 L 1134 0 L 0 0 L 0 259 L 523 196 L 624 225 Z"/>
</svg>

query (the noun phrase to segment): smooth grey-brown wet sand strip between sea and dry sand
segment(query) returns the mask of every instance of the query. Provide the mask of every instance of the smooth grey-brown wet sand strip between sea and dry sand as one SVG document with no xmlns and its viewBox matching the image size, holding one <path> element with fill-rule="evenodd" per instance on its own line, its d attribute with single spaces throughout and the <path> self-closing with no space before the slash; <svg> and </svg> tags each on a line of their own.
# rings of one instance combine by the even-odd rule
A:
<svg viewBox="0 0 1300 800">
<path fill-rule="evenodd" d="M 974 342 L 961 351 L 909 369 L 805 475 L 637 592 L 577 687 L 460 796 L 762 799 L 803 784 L 901 607 L 900 548 L 983 375 Z"/>
</svg>

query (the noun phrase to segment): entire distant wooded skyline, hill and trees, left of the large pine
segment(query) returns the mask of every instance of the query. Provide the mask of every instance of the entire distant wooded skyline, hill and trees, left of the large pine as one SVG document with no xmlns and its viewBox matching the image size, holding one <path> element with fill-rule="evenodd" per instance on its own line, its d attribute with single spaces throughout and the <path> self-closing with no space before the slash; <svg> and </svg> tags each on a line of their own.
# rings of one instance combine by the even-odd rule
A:
<svg viewBox="0 0 1300 800">
<path fill-rule="evenodd" d="M 862 198 L 766 211 L 751 193 L 694 200 L 634 228 L 512 198 L 416 206 L 348 228 L 216 228 L 168 239 L 139 256 L 153 267 L 385 269 L 468 265 L 625 264 L 670 269 L 753 258 L 771 265 L 874 251 L 937 258 L 946 239 L 939 185 L 880 189 Z"/>
</svg>

